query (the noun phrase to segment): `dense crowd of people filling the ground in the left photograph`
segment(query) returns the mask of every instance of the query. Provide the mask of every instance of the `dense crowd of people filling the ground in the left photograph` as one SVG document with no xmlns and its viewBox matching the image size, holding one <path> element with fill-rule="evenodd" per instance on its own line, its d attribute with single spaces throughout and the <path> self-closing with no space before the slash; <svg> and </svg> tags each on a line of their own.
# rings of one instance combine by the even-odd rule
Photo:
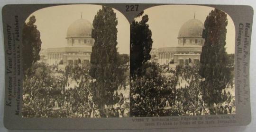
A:
<svg viewBox="0 0 256 132">
<path fill-rule="evenodd" d="M 48 77 L 31 75 L 23 80 L 23 117 L 128 117 L 129 98 L 122 93 L 116 91 L 116 105 L 101 108 L 93 102 L 89 67 L 47 68 Z"/>
</svg>

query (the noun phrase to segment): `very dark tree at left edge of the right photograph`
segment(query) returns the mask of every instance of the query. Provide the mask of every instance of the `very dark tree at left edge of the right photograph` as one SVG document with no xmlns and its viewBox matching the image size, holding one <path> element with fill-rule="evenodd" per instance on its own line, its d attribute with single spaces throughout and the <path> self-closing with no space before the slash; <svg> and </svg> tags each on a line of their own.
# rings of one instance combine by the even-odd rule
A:
<svg viewBox="0 0 256 132">
<path fill-rule="evenodd" d="M 137 17 L 142 16 L 141 12 Z M 141 66 L 150 60 L 150 51 L 153 40 L 152 33 L 149 29 L 148 16 L 142 16 L 140 22 L 133 20 L 130 26 L 130 73 L 131 76 L 141 75 Z"/>
</svg>

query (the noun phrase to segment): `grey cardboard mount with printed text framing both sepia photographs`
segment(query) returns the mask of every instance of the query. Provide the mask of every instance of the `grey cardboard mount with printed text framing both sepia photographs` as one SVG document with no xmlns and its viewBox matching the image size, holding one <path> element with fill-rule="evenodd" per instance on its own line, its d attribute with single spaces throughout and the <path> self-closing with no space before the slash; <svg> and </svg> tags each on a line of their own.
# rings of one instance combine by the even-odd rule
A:
<svg viewBox="0 0 256 132">
<path fill-rule="evenodd" d="M 91 4 L 91 3 L 90 3 Z M 8 53 L 9 49 L 22 48 L 22 37 L 14 44 L 9 43 L 11 34 L 8 32 L 8 25 L 15 28 L 9 29 L 11 33 L 18 30 L 18 35 L 22 36 L 22 28 L 27 17 L 34 11 L 68 4 L 23 4 L 6 5 L 2 8 L 3 34 L 5 46 L 5 109 L 4 126 L 8 129 L 32 129 L 32 130 L 128 130 L 128 129 L 163 129 L 163 128 L 186 128 L 186 127 L 212 127 L 212 126 L 237 126 L 247 125 L 251 122 L 250 89 L 249 89 L 249 60 L 250 41 L 253 22 L 253 8 L 244 5 L 201 5 L 218 8 L 229 14 L 236 29 L 235 46 L 235 98 L 236 114 L 234 115 L 200 115 L 200 116 L 169 116 L 169 117 L 126 117 L 126 118 L 22 118 L 22 70 L 21 74 L 9 74 L 8 69 L 22 69 L 22 65 L 17 65 L 14 61 L 21 61 L 22 52 L 19 54 Z M 123 13 L 132 22 L 138 13 L 146 8 L 161 6 L 166 4 L 138 4 L 138 10 L 127 12 L 126 5 L 131 4 L 96 4 L 115 8 Z M 170 5 L 170 4 L 168 4 Z M 15 25 L 16 24 L 16 25 Z M 18 24 L 18 26 L 17 26 Z M 250 25 L 247 31 L 247 41 L 245 42 L 244 32 L 239 33 L 241 25 Z M 245 28 L 245 27 L 244 27 Z M 238 43 L 238 37 L 242 40 Z M 21 50 L 21 49 L 20 49 Z M 22 62 L 21 62 L 22 64 Z M 12 81 L 11 81 L 12 80 Z M 15 81 L 14 81 L 15 80 Z M 14 84 L 14 82 L 16 84 Z M 12 96 L 13 86 L 17 86 L 18 96 Z M 17 101 L 19 98 L 20 101 Z M 11 106 L 8 106 L 9 102 Z M 156 124 L 163 125 L 156 125 Z"/>
</svg>

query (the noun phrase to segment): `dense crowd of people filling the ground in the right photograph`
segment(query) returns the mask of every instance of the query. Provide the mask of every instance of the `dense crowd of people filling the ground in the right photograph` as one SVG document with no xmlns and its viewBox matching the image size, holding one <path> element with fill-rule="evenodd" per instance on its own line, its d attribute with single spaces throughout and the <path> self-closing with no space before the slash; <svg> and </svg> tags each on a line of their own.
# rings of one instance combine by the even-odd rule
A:
<svg viewBox="0 0 256 132">
<path fill-rule="evenodd" d="M 220 115 L 236 113 L 235 97 L 226 88 L 219 103 L 202 99 L 198 65 L 159 66 L 158 76 L 146 75 L 131 80 L 131 116 Z"/>
</svg>

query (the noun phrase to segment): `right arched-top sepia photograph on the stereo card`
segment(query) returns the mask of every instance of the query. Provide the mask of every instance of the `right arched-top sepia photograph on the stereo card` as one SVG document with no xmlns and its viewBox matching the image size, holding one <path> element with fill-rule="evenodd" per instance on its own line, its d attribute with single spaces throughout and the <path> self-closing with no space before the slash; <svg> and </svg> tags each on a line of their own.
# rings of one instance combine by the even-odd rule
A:
<svg viewBox="0 0 256 132">
<path fill-rule="evenodd" d="M 235 26 L 218 8 L 163 5 L 130 26 L 130 116 L 236 114 Z"/>
</svg>

